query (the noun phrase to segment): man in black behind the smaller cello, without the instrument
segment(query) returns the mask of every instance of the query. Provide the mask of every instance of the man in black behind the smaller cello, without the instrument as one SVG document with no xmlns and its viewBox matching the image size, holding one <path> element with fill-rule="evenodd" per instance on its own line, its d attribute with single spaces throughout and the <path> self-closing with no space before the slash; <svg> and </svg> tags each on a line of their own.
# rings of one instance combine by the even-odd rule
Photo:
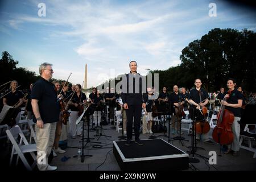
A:
<svg viewBox="0 0 256 182">
<path fill-rule="evenodd" d="M 199 106 L 205 106 L 208 104 L 208 93 L 205 91 L 205 89 L 201 88 L 202 82 L 199 78 L 195 80 L 195 89 L 192 89 L 189 93 L 189 114 L 191 115 L 191 119 L 196 121 L 204 121 L 204 115 L 201 114 L 199 110 Z M 200 99 L 201 96 L 201 99 Z M 205 100 L 205 101 L 204 101 Z M 204 101 L 200 103 L 201 101 Z M 200 103 L 200 104 L 199 104 Z M 213 144 L 212 141 L 209 140 L 209 132 L 205 134 L 201 134 L 203 142 L 207 142 L 210 144 Z M 200 139 L 200 135 L 196 134 L 196 139 Z"/>
</svg>

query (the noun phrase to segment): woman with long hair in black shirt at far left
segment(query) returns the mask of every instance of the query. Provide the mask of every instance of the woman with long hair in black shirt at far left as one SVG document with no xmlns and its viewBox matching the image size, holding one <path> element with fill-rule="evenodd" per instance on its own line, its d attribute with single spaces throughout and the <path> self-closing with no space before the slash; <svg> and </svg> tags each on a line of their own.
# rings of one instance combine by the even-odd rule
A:
<svg viewBox="0 0 256 182">
<path fill-rule="evenodd" d="M 3 97 L 3 105 L 9 105 L 9 106 L 14 106 L 15 108 L 18 108 L 22 106 L 23 104 L 23 94 L 16 89 L 18 87 L 18 82 L 16 80 L 11 81 L 10 84 L 10 89 L 7 90 L 7 93 L 5 97 Z M 19 117 L 20 117 L 20 112 L 16 117 L 16 125 L 19 123 Z"/>
</svg>

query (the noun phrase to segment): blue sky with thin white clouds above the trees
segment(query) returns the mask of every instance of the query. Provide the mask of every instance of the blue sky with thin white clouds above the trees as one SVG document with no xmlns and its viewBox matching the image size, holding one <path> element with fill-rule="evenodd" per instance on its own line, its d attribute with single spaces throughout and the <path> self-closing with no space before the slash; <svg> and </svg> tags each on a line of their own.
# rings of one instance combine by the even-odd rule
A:
<svg viewBox="0 0 256 182">
<path fill-rule="evenodd" d="M 38 4 L 46 17 L 38 16 Z M 217 16 L 210 17 L 209 3 Z M 0 1 L 0 51 L 9 51 L 18 67 L 38 74 L 44 61 L 53 77 L 88 86 L 129 72 L 168 69 L 180 64 L 189 42 L 213 28 L 256 30 L 256 13 L 226 1 Z"/>
</svg>

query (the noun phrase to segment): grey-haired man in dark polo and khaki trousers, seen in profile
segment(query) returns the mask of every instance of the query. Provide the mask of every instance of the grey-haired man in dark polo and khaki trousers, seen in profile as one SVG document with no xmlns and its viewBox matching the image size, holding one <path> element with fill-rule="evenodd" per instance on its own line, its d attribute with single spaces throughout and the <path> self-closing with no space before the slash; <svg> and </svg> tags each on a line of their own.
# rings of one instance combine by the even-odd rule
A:
<svg viewBox="0 0 256 182">
<path fill-rule="evenodd" d="M 39 67 L 40 78 L 35 82 L 31 91 L 31 104 L 34 112 L 33 121 L 36 123 L 36 164 L 39 171 L 53 171 L 56 166 L 49 166 L 48 156 L 51 153 L 59 121 L 60 105 L 55 91 L 55 85 L 49 80 L 52 77 L 52 64 L 43 63 Z M 42 156 L 46 155 L 43 159 Z"/>
</svg>

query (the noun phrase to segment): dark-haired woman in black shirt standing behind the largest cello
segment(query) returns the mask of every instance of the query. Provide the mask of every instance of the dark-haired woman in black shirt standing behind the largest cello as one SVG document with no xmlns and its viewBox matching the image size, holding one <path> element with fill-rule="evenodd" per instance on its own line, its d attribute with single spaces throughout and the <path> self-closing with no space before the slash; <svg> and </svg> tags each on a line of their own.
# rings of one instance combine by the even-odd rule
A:
<svg viewBox="0 0 256 182">
<path fill-rule="evenodd" d="M 225 109 L 232 111 L 234 114 L 234 122 L 232 124 L 232 132 L 234 135 L 234 140 L 231 144 L 228 145 L 228 151 L 224 152 L 224 154 L 233 153 L 234 156 L 238 155 L 239 147 L 239 138 L 240 138 L 240 121 L 241 118 L 241 107 L 243 102 L 242 93 L 235 89 L 236 81 L 233 78 L 229 78 L 226 85 L 228 86 L 230 94 L 225 94 L 226 101 L 223 101 L 223 105 L 225 105 Z"/>
</svg>

